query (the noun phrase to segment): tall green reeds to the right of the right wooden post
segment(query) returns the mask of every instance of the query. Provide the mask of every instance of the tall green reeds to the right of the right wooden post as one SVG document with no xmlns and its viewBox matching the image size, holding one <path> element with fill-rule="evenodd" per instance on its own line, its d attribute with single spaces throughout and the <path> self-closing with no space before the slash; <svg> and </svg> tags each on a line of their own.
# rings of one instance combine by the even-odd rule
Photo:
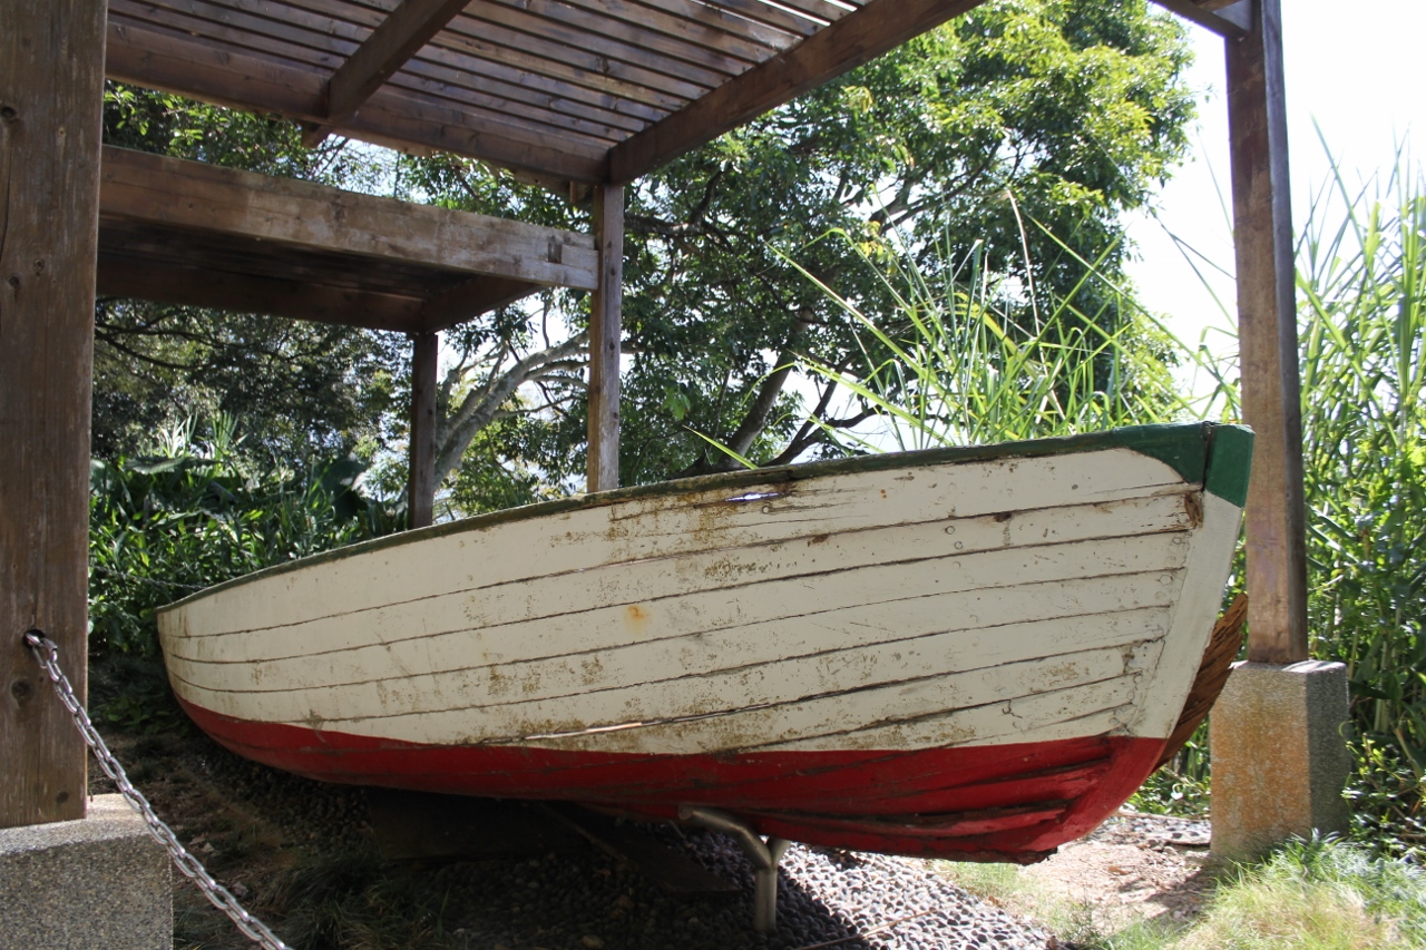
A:
<svg viewBox="0 0 1426 950">
<path fill-rule="evenodd" d="M 1368 837 L 1426 847 L 1426 181 L 1315 201 L 1298 248 L 1312 650 L 1348 665 Z"/>
</svg>

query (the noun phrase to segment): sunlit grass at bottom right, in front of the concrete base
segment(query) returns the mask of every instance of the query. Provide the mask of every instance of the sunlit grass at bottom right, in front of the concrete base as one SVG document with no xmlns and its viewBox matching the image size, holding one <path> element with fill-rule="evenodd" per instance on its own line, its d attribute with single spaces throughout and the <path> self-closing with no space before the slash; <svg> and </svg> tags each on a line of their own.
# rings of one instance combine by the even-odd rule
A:
<svg viewBox="0 0 1426 950">
<path fill-rule="evenodd" d="M 1417 950 L 1426 873 L 1336 840 L 1291 842 L 1268 860 L 1219 870 L 1192 920 L 1141 920 L 1105 933 L 1087 903 L 1050 893 L 1012 864 L 951 864 L 971 893 L 1041 921 L 1077 950 Z"/>
</svg>

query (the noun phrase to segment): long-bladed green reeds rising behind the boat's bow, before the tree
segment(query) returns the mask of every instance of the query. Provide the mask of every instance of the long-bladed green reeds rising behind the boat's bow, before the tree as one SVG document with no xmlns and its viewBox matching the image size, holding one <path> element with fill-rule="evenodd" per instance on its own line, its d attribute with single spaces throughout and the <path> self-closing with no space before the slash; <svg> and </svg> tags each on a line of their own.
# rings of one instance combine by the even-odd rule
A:
<svg viewBox="0 0 1426 950">
<path fill-rule="evenodd" d="M 853 394 L 853 418 L 883 424 L 867 431 L 809 419 L 844 452 L 1070 435 L 1195 411 L 1166 368 L 1191 354 L 1098 262 L 1081 261 L 1085 278 L 1064 297 L 992 272 L 984 247 L 960 267 L 944 257 L 923 267 L 893 241 L 857 254 L 877 272 L 894 315 L 868 317 L 821 285 L 860 328 L 861 365 L 804 359 Z M 1081 298 L 1101 310 L 1085 314 Z"/>
</svg>

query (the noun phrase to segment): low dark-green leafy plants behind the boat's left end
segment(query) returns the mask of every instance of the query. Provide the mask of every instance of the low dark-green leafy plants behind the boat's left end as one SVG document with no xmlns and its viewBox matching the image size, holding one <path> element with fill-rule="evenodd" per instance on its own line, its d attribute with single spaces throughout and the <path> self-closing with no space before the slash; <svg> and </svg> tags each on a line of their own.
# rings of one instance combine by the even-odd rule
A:
<svg viewBox="0 0 1426 950">
<path fill-rule="evenodd" d="M 158 652 L 154 609 L 205 586 L 389 533 L 404 511 L 365 498 L 347 458 L 302 471 L 244 455 L 230 419 L 200 439 L 167 431 L 153 452 L 96 459 L 90 495 L 90 650 Z M 140 698 L 141 699 L 141 698 Z M 114 715 L 125 715 L 110 703 Z"/>
</svg>

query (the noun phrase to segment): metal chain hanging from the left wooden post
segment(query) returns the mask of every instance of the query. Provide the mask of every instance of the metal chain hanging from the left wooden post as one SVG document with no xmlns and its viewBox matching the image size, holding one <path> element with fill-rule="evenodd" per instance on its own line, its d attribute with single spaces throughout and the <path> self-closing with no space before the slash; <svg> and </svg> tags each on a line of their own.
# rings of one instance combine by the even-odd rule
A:
<svg viewBox="0 0 1426 950">
<path fill-rule="evenodd" d="M 242 934 L 257 944 L 261 944 L 264 950 L 289 950 L 289 947 L 278 940 L 277 934 L 268 930 L 267 924 L 250 914 L 242 909 L 227 887 L 220 884 L 212 879 L 212 876 L 204 870 L 198 859 L 194 857 L 178 843 L 178 837 L 173 833 L 163 820 L 154 814 L 154 809 L 148 805 L 148 799 L 130 783 L 128 776 L 124 775 L 124 766 L 118 763 L 114 753 L 108 750 L 104 740 L 100 737 L 98 732 L 94 730 L 94 723 L 90 722 L 88 713 L 80 705 L 78 698 L 74 695 L 74 688 L 70 686 L 70 680 L 60 672 L 60 648 L 54 645 L 54 640 L 44 636 L 40 630 L 30 630 L 24 635 L 26 646 L 34 650 L 36 659 L 48 673 L 50 682 L 54 683 L 54 692 L 64 703 L 64 708 L 70 710 L 74 717 L 74 725 L 78 727 L 80 735 L 84 736 L 86 745 L 94 752 L 94 757 L 98 759 L 100 767 L 104 770 L 114 785 L 118 786 L 120 795 L 134 806 L 143 817 L 144 823 L 148 826 L 148 833 L 158 839 L 158 843 L 164 846 L 168 856 L 173 859 L 174 864 L 184 876 L 198 886 L 202 896 L 207 897 L 214 907 L 228 914 L 232 923 L 237 924 Z"/>
</svg>

